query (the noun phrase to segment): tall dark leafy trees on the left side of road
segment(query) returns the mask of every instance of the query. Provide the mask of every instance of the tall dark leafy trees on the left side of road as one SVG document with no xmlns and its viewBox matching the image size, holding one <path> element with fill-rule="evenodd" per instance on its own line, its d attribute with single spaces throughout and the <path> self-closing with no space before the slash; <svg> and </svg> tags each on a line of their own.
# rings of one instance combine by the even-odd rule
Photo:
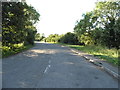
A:
<svg viewBox="0 0 120 90">
<path fill-rule="evenodd" d="M 3 55 L 19 50 L 18 46 L 34 44 L 39 16 L 35 8 L 25 2 L 2 2 Z"/>
</svg>

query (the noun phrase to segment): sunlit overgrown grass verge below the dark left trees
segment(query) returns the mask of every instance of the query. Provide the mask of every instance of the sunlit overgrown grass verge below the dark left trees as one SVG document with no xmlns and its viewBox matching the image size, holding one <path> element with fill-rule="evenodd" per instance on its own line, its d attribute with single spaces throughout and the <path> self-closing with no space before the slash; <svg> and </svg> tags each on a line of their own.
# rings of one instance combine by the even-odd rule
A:
<svg viewBox="0 0 120 90">
<path fill-rule="evenodd" d="M 5 57 L 11 56 L 11 55 L 15 55 L 15 54 L 17 54 L 19 52 L 28 50 L 28 49 L 30 49 L 32 47 L 33 47 L 33 45 L 24 46 L 23 43 L 14 44 L 13 49 L 11 49 L 8 46 L 3 46 L 2 47 L 2 58 L 5 58 Z"/>
</svg>

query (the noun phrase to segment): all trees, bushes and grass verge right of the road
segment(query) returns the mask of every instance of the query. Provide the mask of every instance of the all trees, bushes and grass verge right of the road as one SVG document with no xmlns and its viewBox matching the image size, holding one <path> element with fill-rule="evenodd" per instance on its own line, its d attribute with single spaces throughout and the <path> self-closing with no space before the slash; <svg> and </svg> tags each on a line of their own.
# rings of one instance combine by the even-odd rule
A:
<svg viewBox="0 0 120 90">
<path fill-rule="evenodd" d="M 101 1 L 76 22 L 74 32 L 50 35 L 47 42 L 64 43 L 120 66 L 120 2 Z"/>
</svg>

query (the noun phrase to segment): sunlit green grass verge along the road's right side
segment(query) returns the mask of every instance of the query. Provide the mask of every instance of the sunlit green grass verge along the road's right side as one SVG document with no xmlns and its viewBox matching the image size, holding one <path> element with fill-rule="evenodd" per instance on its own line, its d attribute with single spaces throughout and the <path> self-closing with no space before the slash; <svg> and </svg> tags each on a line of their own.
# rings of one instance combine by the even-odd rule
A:
<svg viewBox="0 0 120 90">
<path fill-rule="evenodd" d="M 120 62 L 118 62 L 118 50 L 116 50 L 115 48 L 108 49 L 107 47 L 102 46 L 80 46 L 62 43 L 58 44 L 69 46 L 85 53 L 92 54 L 102 60 L 112 63 L 115 66 L 120 66 Z"/>
</svg>

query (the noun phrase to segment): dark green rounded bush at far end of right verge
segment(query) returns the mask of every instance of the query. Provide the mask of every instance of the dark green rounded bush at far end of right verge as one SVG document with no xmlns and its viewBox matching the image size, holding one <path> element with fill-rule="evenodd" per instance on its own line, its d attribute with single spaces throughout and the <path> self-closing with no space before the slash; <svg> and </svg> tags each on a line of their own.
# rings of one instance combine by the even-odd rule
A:
<svg viewBox="0 0 120 90">
<path fill-rule="evenodd" d="M 68 32 L 59 40 L 60 43 L 78 44 L 78 38 L 74 33 Z"/>
</svg>

